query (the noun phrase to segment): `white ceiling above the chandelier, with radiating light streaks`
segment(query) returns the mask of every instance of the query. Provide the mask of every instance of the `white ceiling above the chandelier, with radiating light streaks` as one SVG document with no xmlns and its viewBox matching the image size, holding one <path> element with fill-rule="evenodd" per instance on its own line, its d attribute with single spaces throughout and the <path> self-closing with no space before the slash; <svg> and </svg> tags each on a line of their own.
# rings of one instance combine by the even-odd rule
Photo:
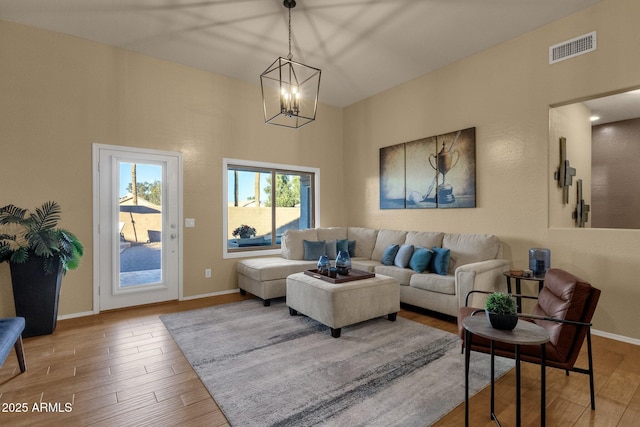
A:
<svg viewBox="0 0 640 427">
<path fill-rule="evenodd" d="M 346 106 L 599 1 L 297 0 L 293 59 Z M 288 53 L 282 0 L 0 0 L 0 19 L 256 85 Z"/>
</svg>

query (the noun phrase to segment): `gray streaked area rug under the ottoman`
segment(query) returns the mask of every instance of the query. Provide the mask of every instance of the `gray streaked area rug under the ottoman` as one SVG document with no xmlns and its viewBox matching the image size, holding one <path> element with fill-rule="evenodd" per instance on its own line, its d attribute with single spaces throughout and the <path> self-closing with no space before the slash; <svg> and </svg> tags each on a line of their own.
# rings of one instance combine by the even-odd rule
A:
<svg viewBox="0 0 640 427">
<path fill-rule="evenodd" d="M 233 426 L 427 426 L 464 402 L 456 335 L 398 317 L 342 329 L 246 300 L 161 317 Z M 473 353 L 471 390 L 489 384 Z M 513 361 L 496 358 L 496 376 Z"/>
</svg>

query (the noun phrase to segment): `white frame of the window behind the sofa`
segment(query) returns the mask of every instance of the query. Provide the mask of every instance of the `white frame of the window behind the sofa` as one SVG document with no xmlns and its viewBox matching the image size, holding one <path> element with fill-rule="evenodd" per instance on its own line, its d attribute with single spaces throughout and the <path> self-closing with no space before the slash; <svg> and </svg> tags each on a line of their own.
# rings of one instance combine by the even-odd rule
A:
<svg viewBox="0 0 640 427">
<path fill-rule="evenodd" d="M 229 250 L 228 246 L 228 222 L 229 222 L 229 167 L 247 167 L 257 168 L 262 170 L 268 170 L 276 173 L 302 173 L 313 174 L 313 222 L 317 227 L 320 224 L 320 169 L 307 166 L 286 165 L 279 163 L 258 162 L 252 160 L 242 159 L 222 159 L 222 258 L 247 258 L 257 257 L 265 255 L 280 255 L 282 248 L 269 248 L 269 249 L 257 249 L 255 247 L 248 247 L 242 249 Z M 275 203 L 272 206 L 273 218 L 276 218 L 276 206 Z"/>
</svg>

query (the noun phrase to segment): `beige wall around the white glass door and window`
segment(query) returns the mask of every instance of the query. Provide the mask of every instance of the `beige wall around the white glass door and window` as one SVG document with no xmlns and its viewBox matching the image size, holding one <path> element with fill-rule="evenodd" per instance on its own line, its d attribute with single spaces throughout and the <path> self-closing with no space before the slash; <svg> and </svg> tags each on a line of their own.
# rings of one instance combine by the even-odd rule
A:
<svg viewBox="0 0 640 427">
<path fill-rule="evenodd" d="M 222 259 L 222 159 L 321 169 L 321 197 L 341 198 L 342 110 L 320 105 L 297 131 L 264 124 L 256 84 L 75 37 L 0 21 L 0 206 L 56 200 L 62 226 L 86 254 L 64 280 L 60 314 L 92 310 L 92 143 L 181 152 L 184 159 L 184 295 L 237 288 Z M 323 224 L 342 212 L 321 204 Z M 205 268 L 213 278 L 205 279 Z M 0 315 L 13 313 L 9 268 L 0 265 Z"/>
</svg>

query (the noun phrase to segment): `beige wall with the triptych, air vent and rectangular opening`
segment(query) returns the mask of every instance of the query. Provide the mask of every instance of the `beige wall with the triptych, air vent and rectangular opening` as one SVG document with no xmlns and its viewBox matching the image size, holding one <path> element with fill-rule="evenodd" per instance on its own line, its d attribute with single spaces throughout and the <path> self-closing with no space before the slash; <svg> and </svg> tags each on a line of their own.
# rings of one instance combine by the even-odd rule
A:
<svg viewBox="0 0 640 427">
<path fill-rule="evenodd" d="M 549 226 L 550 204 L 562 196 L 553 180 L 559 150 L 549 138 L 549 106 L 640 85 L 638 16 L 637 0 L 604 0 L 346 108 L 349 224 L 495 233 L 516 267 L 527 265 L 529 248 L 548 247 L 552 266 L 602 289 L 597 329 L 640 338 L 640 231 Z M 593 30 L 597 51 L 548 64 L 550 45 Z M 471 126 L 477 208 L 379 209 L 380 147 Z"/>
</svg>

